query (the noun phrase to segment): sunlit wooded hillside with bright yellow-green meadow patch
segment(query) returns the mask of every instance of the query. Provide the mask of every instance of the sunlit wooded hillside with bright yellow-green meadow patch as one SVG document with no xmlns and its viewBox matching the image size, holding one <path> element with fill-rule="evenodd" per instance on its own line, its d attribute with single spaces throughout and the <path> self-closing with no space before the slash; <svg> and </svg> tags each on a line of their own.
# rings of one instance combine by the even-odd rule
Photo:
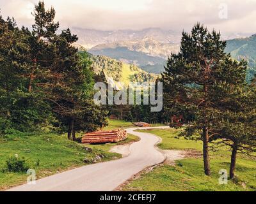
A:
<svg viewBox="0 0 256 204">
<path fill-rule="evenodd" d="M 106 56 L 93 56 L 92 68 L 95 73 L 104 72 L 106 78 L 113 79 L 115 82 L 154 82 L 157 75 L 147 73 L 134 64 L 123 64 L 120 61 Z"/>
</svg>

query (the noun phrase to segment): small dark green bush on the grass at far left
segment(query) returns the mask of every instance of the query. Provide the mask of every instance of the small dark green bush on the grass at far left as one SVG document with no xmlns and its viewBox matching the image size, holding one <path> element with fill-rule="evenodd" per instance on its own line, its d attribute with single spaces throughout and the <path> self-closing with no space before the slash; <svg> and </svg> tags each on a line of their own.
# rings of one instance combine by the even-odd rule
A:
<svg viewBox="0 0 256 204">
<path fill-rule="evenodd" d="M 6 170 L 9 172 L 26 172 L 29 170 L 28 164 L 24 157 L 12 156 L 6 160 Z"/>
</svg>

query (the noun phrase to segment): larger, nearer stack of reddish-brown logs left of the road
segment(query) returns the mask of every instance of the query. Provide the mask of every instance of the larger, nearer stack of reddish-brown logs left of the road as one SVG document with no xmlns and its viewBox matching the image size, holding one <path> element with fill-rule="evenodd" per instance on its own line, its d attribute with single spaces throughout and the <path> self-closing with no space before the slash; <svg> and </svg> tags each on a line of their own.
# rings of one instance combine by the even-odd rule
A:
<svg viewBox="0 0 256 204">
<path fill-rule="evenodd" d="M 124 129 L 115 129 L 112 131 L 97 131 L 86 133 L 82 138 L 82 143 L 104 144 L 116 143 L 127 139 L 127 131 Z"/>
</svg>

